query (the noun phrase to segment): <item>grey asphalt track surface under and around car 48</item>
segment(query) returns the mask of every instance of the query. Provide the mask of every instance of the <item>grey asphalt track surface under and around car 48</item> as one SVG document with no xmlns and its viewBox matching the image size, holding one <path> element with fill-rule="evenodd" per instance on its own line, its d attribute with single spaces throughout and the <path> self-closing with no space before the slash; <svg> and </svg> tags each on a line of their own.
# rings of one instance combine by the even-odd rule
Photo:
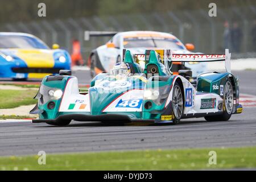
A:
<svg viewBox="0 0 256 182">
<path fill-rule="evenodd" d="M 234 72 L 240 77 L 241 93 L 256 95 L 256 71 Z M 88 84 L 89 73 L 76 72 L 80 83 Z M 0 123 L 0 155 L 141 150 L 157 148 L 201 148 L 256 146 L 256 107 L 226 122 L 204 118 L 183 119 L 178 125 L 129 123 L 105 125 L 72 122 L 69 126 L 44 123 Z"/>
</svg>

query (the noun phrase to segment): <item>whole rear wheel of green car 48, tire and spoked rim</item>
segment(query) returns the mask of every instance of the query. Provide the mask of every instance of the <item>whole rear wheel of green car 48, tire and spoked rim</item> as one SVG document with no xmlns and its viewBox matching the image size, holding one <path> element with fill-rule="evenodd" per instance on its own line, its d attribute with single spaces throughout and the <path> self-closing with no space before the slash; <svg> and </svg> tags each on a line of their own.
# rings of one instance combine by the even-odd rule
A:
<svg viewBox="0 0 256 182">
<path fill-rule="evenodd" d="M 221 115 L 213 115 L 213 116 L 205 116 L 206 121 L 228 121 L 232 115 L 233 105 L 234 105 L 234 96 L 233 96 L 233 86 L 230 81 L 226 81 L 224 86 L 224 96 L 223 96 L 223 114 Z"/>
</svg>

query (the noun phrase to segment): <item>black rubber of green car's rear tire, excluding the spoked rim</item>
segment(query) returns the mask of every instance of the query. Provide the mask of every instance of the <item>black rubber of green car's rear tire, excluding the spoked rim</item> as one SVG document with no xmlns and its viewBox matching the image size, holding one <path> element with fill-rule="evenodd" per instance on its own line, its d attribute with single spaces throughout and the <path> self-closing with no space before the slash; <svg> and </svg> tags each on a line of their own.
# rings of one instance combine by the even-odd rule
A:
<svg viewBox="0 0 256 182">
<path fill-rule="evenodd" d="M 230 110 L 228 111 L 226 109 L 227 107 L 229 107 L 229 106 L 226 105 L 226 100 L 227 100 L 227 97 L 228 97 L 227 96 L 228 93 L 226 93 L 227 92 L 227 90 L 226 90 L 227 85 L 231 86 L 230 87 L 231 88 L 230 92 L 232 93 L 232 109 L 231 109 L 231 112 L 230 112 Z M 223 114 L 213 115 L 213 116 L 205 116 L 204 118 L 205 118 L 206 121 L 228 121 L 230 119 L 230 117 L 232 115 L 232 110 L 233 110 L 233 85 L 232 85 L 230 79 L 228 81 L 226 81 L 226 83 L 225 83 L 223 98 L 224 98 L 224 100 L 223 100 L 224 101 L 224 103 L 223 103 L 223 110 L 224 110 Z"/>
</svg>

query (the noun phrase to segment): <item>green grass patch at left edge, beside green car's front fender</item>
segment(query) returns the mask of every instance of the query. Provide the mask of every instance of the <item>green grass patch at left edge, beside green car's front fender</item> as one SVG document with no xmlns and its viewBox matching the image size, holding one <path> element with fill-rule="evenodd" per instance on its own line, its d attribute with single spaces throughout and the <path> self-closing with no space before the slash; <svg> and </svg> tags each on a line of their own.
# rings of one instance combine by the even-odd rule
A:
<svg viewBox="0 0 256 182">
<path fill-rule="evenodd" d="M 22 105 L 36 104 L 38 90 L 0 90 L 0 109 L 10 109 Z"/>
</svg>

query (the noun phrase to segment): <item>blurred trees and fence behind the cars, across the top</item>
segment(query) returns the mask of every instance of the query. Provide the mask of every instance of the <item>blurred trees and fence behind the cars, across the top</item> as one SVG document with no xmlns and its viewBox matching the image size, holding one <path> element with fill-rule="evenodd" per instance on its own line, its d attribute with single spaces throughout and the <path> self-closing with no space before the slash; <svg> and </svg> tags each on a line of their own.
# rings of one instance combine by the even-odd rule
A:
<svg viewBox="0 0 256 182">
<path fill-rule="evenodd" d="M 46 17 L 38 16 L 38 4 L 46 3 Z M 208 15 L 216 3 L 217 17 Z M 27 32 L 51 46 L 72 53 L 79 40 L 84 62 L 92 49 L 110 37 L 84 40 L 84 31 L 152 30 L 172 32 L 196 52 L 232 51 L 233 58 L 256 56 L 255 0 L 0 0 L 0 31 Z"/>
</svg>

